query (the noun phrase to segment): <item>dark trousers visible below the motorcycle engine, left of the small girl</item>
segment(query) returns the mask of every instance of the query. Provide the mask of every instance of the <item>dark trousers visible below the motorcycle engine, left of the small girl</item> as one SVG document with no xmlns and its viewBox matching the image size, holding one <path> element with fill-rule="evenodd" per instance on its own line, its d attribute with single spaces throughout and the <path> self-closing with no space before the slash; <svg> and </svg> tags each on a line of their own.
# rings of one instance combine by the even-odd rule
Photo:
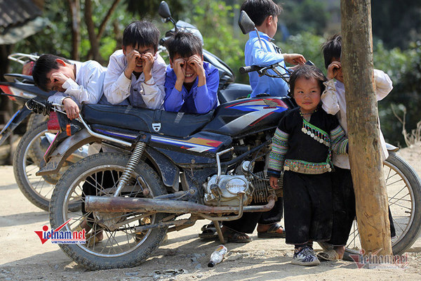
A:
<svg viewBox="0 0 421 281">
<path fill-rule="evenodd" d="M 243 216 L 236 221 L 224 221 L 224 226 L 240 233 L 253 233 L 258 223 L 273 224 L 279 223 L 282 218 L 283 198 L 278 197 L 274 207 L 270 211 L 257 213 L 243 213 Z M 252 204 L 253 205 L 253 204 Z"/>
</svg>

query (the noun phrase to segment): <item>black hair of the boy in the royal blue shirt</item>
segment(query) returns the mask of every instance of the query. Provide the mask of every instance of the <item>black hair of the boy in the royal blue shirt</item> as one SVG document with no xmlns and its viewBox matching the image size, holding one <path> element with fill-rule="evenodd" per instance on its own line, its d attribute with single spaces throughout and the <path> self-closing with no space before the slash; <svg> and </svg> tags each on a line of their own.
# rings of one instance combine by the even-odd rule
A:
<svg viewBox="0 0 421 281">
<path fill-rule="evenodd" d="M 191 32 L 175 32 L 174 36 L 167 40 L 166 47 L 171 60 L 175 55 L 188 58 L 192 55 L 202 56 L 203 53 L 201 40 Z"/>
</svg>

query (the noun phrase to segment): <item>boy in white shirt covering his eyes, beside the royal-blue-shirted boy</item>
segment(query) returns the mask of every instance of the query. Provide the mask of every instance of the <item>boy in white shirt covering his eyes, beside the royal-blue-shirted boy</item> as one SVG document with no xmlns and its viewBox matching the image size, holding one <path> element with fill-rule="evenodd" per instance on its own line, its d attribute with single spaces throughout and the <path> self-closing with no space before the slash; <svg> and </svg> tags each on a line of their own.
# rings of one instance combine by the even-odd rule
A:
<svg viewBox="0 0 421 281">
<path fill-rule="evenodd" d="M 123 46 L 109 57 L 104 95 L 113 105 L 160 109 L 166 63 L 158 50 L 160 33 L 152 22 L 135 21 L 123 32 Z"/>
</svg>

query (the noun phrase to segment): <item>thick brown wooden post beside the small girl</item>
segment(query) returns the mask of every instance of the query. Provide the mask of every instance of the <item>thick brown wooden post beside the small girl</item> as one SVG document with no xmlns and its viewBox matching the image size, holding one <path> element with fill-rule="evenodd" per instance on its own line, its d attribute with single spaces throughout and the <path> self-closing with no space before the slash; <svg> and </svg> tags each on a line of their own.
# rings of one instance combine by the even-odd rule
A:
<svg viewBox="0 0 421 281">
<path fill-rule="evenodd" d="M 342 72 L 347 101 L 349 162 L 361 246 L 392 254 L 387 190 L 380 154 L 380 129 L 373 81 L 370 0 L 341 0 Z"/>
</svg>

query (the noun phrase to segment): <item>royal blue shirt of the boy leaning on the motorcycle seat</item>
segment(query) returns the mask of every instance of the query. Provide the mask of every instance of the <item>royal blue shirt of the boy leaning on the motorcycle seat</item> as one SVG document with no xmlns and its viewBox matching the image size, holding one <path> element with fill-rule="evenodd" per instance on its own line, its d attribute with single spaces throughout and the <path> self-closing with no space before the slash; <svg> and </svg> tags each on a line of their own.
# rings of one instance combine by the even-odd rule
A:
<svg viewBox="0 0 421 281">
<path fill-rule="evenodd" d="M 171 65 L 166 67 L 165 100 L 163 107 L 167 111 L 187 113 L 207 113 L 218 106 L 219 72 L 210 63 L 203 62 L 206 74 L 206 84 L 197 86 L 199 78 L 196 78 L 192 89 L 187 91 L 185 86 L 182 90 L 175 89 L 177 76 Z"/>
</svg>

